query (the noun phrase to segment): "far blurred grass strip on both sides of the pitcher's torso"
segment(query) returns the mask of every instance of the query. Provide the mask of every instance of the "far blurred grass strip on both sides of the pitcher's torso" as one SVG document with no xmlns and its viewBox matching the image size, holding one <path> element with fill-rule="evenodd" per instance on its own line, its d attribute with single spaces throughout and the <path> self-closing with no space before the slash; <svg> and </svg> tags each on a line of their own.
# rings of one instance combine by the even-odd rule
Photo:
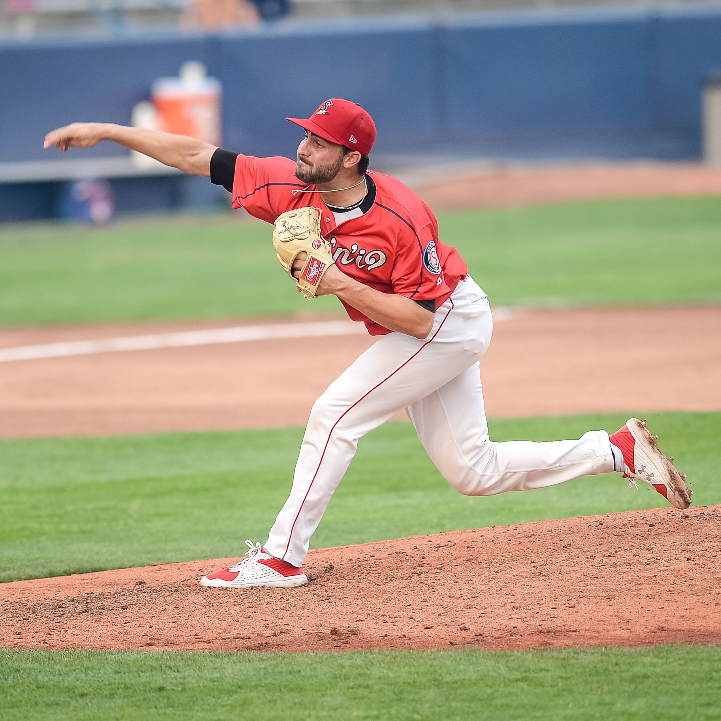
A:
<svg viewBox="0 0 721 721">
<path fill-rule="evenodd" d="M 438 218 L 492 304 L 721 301 L 721 200 L 559 203 Z M 270 226 L 223 216 L 0 239 L 0 325 L 341 312 L 278 267 Z"/>
</svg>

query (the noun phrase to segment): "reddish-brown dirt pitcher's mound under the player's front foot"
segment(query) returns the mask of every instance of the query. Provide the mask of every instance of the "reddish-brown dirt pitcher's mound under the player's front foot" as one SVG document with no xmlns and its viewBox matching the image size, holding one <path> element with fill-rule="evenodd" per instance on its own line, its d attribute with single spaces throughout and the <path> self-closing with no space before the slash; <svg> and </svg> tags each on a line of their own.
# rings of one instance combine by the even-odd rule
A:
<svg viewBox="0 0 721 721">
<path fill-rule="evenodd" d="M 240 544 L 239 544 L 240 545 Z M 295 590 L 230 559 L 0 585 L 0 645 L 324 651 L 721 642 L 721 505 L 311 551 Z"/>
</svg>

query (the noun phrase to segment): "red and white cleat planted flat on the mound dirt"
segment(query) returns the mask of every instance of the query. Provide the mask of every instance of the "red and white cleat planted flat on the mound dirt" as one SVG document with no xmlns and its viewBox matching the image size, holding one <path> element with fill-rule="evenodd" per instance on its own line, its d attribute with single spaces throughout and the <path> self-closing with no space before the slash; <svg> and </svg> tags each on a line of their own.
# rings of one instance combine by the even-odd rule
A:
<svg viewBox="0 0 721 721">
<path fill-rule="evenodd" d="M 296 588 L 308 583 L 302 568 L 274 558 L 259 543 L 254 546 L 250 541 L 245 542 L 249 546 L 246 557 L 235 565 L 203 576 L 200 585 L 216 588 L 251 588 L 261 585 Z"/>
</svg>

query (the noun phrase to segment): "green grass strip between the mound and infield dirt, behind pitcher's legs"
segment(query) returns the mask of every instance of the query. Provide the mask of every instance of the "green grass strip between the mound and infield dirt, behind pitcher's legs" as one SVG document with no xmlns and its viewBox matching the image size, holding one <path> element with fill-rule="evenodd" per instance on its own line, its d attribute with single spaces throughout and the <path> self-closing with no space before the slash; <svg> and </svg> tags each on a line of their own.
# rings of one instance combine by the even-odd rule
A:
<svg viewBox="0 0 721 721">
<path fill-rule="evenodd" d="M 627 415 L 495 420 L 495 440 L 578 438 Z M 689 474 L 694 503 L 721 503 L 721 413 L 648 416 Z M 0 580 L 239 556 L 265 541 L 286 500 L 302 430 L 0 441 Z M 313 547 L 667 505 L 618 474 L 465 497 L 409 423 L 361 440 Z"/>
</svg>

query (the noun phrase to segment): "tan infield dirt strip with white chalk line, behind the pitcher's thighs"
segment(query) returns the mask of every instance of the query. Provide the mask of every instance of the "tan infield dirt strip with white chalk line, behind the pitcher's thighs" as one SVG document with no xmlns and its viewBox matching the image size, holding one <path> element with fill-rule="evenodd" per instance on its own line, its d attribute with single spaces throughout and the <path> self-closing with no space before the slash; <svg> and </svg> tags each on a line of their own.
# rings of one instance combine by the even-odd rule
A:
<svg viewBox="0 0 721 721">
<path fill-rule="evenodd" d="M 202 327 L 6 329 L 0 348 Z M 372 342 L 306 337 L 2 363 L 0 437 L 303 425 Z M 719 410 L 719 358 L 721 306 L 521 310 L 495 325 L 481 361 L 486 410 Z"/>
</svg>

